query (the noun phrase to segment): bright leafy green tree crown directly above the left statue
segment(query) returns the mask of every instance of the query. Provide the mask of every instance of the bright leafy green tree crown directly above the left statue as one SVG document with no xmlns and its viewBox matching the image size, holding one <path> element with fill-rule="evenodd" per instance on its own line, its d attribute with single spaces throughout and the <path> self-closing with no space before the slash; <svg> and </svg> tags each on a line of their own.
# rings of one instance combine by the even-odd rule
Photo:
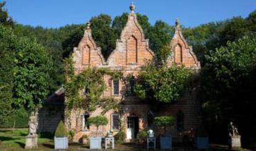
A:
<svg viewBox="0 0 256 151">
<path fill-rule="evenodd" d="M 28 111 L 41 107 L 49 94 L 51 57 L 35 39 L 20 38 L 15 43 L 13 99 L 15 108 Z"/>
</svg>

